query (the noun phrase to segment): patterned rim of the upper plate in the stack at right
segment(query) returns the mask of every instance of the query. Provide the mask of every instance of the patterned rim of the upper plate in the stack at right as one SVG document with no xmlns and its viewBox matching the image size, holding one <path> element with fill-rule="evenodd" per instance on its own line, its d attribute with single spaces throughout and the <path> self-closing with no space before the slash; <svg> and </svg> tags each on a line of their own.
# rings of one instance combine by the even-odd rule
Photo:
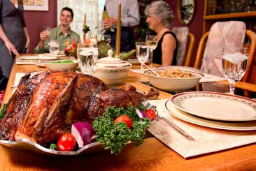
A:
<svg viewBox="0 0 256 171">
<path fill-rule="evenodd" d="M 247 118 L 247 119 L 241 119 L 241 118 L 239 118 L 239 119 L 236 119 L 236 118 L 229 118 L 229 119 L 227 118 L 227 119 L 225 119 L 225 118 L 218 118 L 218 117 L 208 117 L 208 116 L 204 116 L 204 114 L 199 114 L 197 112 L 193 112 L 191 110 L 187 110 L 187 109 L 185 109 L 185 108 L 183 108 L 180 105 L 175 103 L 175 99 L 176 98 L 178 98 L 180 96 L 190 95 L 190 94 L 193 94 L 193 95 L 197 95 L 197 94 L 211 95 L 212 94 L 212 95 L 226 96 L 226 97 L 232 97 L 232 98 L 239 98 L 239 99 L 242 99 L 243 101 L 250 101 L 251 103 L 255 103 L 256 104 L 256 101 L 254 101 L 253 99 L 250 99 L 250 98 L 246 98 L 246 97 L 243 97 L 243 96 L 238 96 L 238 95 L 235 95 L 235 94 L 225 94 L 225 93 L 212 92 L 212 91 L 190 91 L 190 92 L 183 92 L 183 93 L 179 93 L 179 94 L 175 94 L 175 95 L 171 96 L 170 100 L 171 100 L 171 102 L 176 107 L 178 107 L 179 110 L 183 110 L 184 112 L 187 112 L 189 114 L 193 114 L 193 115 L 195 115 L 197 117 L 203 117 L 205 119 L 213 119 L 213 120 L 217 120 L 217 121 L 255 121 L 256 120 L 256 116 L 255 117 L 251 117 L 251 118 Z M 218 98 L 219 96 L 216 96 L 215 98 Z M 190 96 L 190 98 L 193 98 L 193 97 Z M 231 100 L 231 99 L 229 99 L 229 100 Z M 244 103 L 243 101 L 239 101 L 239 102 L 240 103 Z M 248 107 L 251 107 L 251 106 L 248 105 Z M 256 112 L 255 108 L 253 108 L 253 110 L 255 110 L 255 112 Z"/>
</svg>

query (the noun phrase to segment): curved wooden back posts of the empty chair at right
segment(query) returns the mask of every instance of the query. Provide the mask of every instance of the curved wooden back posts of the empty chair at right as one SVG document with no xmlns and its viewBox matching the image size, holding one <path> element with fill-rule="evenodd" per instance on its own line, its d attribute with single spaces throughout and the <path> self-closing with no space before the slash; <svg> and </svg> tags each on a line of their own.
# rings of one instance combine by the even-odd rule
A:
<svg viewBox="0 0 256 171">
<path fill-rule="evenodd" d="M 194 67 L 195 68 L 201 68 L 201 62 L 203 59 L 203 53 L 204 53 L 204 49 L 206 47 L 206 41 L 208 38 L 210 31 L 206 32 L 200 42 L 199 42 L 199 47 L 197 50 L 197 56 L 196 56 L 196 60 L 194 62 Z M 252 71 L 253 68 L 253 62 L 255 59 L 255 47 L 256 47 L 256 34 L 253 31 L 250 30 L 246 30 L 246 36 L 248 36 L 248 38 L 250 38 L 250 52 L 249 52 L 249 59 L 248 59 L 248 65 L 247 65 L 247 69 L 246 69 L 246 73 L 243 76 L 242 81 L 243 82 L 248 82 L 250 79 L 250 73 Z"/>
</svg>

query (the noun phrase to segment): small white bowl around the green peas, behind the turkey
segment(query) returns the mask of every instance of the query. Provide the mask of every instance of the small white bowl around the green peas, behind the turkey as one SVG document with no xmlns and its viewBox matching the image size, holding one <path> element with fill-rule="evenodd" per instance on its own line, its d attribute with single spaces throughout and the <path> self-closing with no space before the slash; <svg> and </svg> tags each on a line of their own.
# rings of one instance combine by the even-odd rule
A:
<svg viewBox="0 0 256 171">
<path fill-rule="evenodd" d="M 66 60 L 60 60 L 60 61 L 66 61 Z M 73 63 L 57 63 L 52 64 L 52 61 L 44 62 L 45 67 L 49 70 L 72 70 L 78 67 L 78 61 L 72 60 Z"/>
</svg>

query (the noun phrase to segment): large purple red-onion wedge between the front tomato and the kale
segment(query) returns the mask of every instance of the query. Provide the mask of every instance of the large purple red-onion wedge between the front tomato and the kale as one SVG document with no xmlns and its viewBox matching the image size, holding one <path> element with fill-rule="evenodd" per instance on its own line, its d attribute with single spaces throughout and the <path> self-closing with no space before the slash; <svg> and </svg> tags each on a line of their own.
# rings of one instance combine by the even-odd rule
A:
<svg viewBox="0 0 256 171">
<path fill-rule="evenodd" d="M 72 125 L 71 133 L 76 138 L 79 147 L 94 142 L 94 130 L 87 122 L 77 122 Z"/>
</svg>

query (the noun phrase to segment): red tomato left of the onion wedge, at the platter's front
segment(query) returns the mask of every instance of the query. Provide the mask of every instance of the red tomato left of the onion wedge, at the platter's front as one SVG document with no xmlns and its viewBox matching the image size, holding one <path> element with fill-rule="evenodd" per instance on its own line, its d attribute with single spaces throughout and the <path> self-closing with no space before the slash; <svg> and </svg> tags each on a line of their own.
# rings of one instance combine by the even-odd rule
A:
<svg viewBox="0 0 256 171">
<path fill-rule="evenodd" d="M 64 133 L 57 142 L 59 151 L 72 151 L 76 147 L 76 139 L 71 133 Z"/>
</svg>

